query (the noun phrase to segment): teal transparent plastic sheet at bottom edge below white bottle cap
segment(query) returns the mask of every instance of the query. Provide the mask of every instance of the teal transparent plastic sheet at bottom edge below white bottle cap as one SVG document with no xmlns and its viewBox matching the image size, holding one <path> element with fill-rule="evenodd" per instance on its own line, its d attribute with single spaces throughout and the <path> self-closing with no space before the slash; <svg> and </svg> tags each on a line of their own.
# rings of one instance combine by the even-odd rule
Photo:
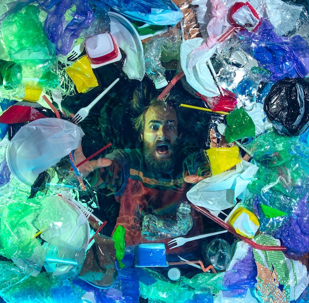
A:
<svg viewBox="0 0 309 303">
<path fill-rule="evenodd" d="M 181 276 L 176 282 L 171 282 L 154 270 L 144 270 L 156 280 L 150 285 L 140 281 L 141 297 L 148 299 L 149 302 L 184 303 L 192 300 L 196 294 L 209 293 L 216 296 L 223 289 L 224 272 L 217 274 L 203 272 L 194 275 L 191 279 Z"/>
</svg>

